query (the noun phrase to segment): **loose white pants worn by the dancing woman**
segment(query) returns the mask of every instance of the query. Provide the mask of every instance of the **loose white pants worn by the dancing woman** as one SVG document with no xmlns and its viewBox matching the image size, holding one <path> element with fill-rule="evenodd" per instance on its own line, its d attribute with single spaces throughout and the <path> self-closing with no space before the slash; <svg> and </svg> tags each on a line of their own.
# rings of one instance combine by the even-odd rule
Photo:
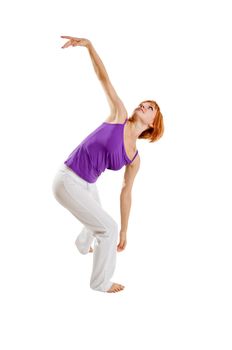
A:
<svg viewBox="0 0 232 350">
<path fill-rule="evenodd" d="M 68 209 L 84 227 L 75 244 L 87 254 L 95 239 L 90 287 L 106 292 L 116 265 L 118 224 L 102 208 L 96 183 L 89 183 L 62 164 L 52 184 L 56 200 Z"/>
</svg>

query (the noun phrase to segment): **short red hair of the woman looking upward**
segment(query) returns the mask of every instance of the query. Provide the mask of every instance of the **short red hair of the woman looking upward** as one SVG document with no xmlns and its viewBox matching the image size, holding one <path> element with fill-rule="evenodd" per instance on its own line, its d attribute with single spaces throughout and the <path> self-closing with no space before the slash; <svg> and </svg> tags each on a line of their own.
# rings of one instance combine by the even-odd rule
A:
<svg viewBox="0 0 232 350">
<path fill-rule="evenodd" d="M 149 102 L 151 103 L 156 110 L 155 120 L 153 122 L 153 127 L 150 127 L 149 129 L 144 130 L 140 135 L 139 139 L 148 139 L 150 140 L 149 143 L 158 141 L 164 133 L 164 121 L 163 121 L 163 115 L 160 112 L 159 105 L 153 101 L 153 100 L 146 100 L 143 102 Z"/>
</svg>

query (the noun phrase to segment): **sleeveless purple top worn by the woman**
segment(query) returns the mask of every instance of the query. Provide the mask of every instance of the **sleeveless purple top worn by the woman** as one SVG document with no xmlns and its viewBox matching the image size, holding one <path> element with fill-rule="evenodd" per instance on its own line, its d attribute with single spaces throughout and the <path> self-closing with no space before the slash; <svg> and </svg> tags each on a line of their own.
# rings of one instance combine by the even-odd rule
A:
<svg viewBox="0 0 232 350">
<path fill-rule="evenodd" d="M 119 170 L 131 163 L 124 146 L 123 124 L 104 122 L 89 134 L 64 161 L 70 169 L 87 182 L 96 182 L 105 169 Z"/>
</svg>

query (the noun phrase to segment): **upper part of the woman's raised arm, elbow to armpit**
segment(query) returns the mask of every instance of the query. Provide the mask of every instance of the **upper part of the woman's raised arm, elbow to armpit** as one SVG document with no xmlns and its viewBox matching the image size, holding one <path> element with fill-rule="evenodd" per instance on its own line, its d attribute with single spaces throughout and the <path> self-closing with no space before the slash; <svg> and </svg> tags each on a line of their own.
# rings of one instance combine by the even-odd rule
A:
<svg viewBox="0 0 232 350">
<path fill-rule="evenodd" d="M 117 92 L 115 91 L 113 85 L 111 84 L 111 81 L 109 80 L 109 78 L 101 79 L 100 81 L 110 105 L 111 115 L 115 116 L 115 114 L 118 114 L 122 118 L 125 116 L 127 117 L 128 116 L 127 110 L 123 102 L 119 98 Z"/>
</svg>

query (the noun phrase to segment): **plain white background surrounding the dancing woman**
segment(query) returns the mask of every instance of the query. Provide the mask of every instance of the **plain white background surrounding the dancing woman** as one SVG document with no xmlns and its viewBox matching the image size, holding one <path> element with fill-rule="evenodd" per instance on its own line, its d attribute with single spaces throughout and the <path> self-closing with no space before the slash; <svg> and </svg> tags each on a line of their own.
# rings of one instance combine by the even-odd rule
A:
<svg viewBox="0 0 232 350">
<path fill-rule="evenodd" d="M 2 349 L 231 349 L 229 4 L 2 2 Z M 60 35 L 91 40 L 129 115 L 154 99 L 164 116 L 162 139 L 137 142 L 120 293 L 89 288 L 82 224 L 51 189 L 109 113 L 87 49 Z M 98 180 L 117 221 L 123 172 Z"/>
</svg>

